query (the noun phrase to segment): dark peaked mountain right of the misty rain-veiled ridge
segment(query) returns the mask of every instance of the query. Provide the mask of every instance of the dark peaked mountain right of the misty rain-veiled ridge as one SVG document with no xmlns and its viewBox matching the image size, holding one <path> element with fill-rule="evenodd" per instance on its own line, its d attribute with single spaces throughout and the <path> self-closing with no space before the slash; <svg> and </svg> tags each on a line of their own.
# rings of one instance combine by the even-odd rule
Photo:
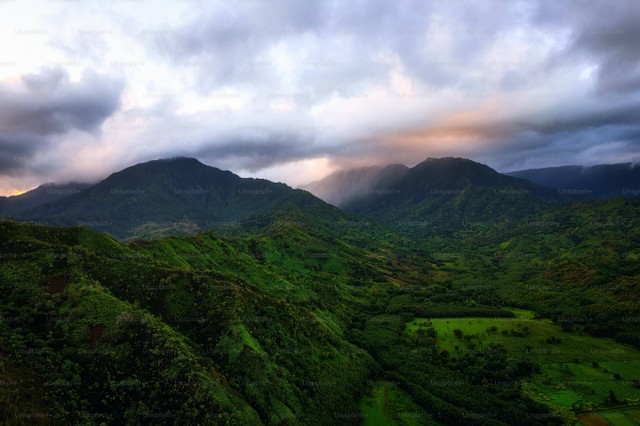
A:
<svg viewBox="0 0 640 426">
<path fill-rule="evenodd" d="M 522 218 L 558 201 L 557 192 L 463 158 L 429 158 L 343 208 L 403 233 L 452 234 Z"/>
</svg>

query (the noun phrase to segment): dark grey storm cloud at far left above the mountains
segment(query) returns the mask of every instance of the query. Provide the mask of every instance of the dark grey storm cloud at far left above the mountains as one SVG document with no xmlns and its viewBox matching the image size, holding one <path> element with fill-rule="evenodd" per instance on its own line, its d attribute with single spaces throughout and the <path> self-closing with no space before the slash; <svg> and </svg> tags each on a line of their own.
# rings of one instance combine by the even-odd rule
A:
<svg viewBox="0 0 640 426">
<path fill-rule="evenodd" d="M 80 82 L 61 69 L 22 77 L 22 84 L 0 85 L 0 174 L 30 169 L 32 157 L 54 137 L 72 130 L 95 133 L 120 107 L 122 85 L 85 73 Z"/>
</svg>

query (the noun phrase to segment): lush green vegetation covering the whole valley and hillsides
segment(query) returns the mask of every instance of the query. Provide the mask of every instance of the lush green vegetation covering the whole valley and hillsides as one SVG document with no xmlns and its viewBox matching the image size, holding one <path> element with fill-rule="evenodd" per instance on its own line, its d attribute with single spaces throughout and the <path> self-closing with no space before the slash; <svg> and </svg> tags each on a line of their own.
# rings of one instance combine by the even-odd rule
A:
<svg viewBox="0 0 640 426">
<path fill-rule="evenodd" d="M 172 185 L 184 183 L 181 170 L 167 175 Z M 260 208 L 234 204 L 229 192 L 215 203 L 186 199 L 185 209 L 204 209 L 198 220 L 169 203 L 171 227 L 131 221 L 149 199 L 169 197 L 166 188 L 129 200 L 130 210 L 104 210 L 104 188 L 68 197 L 65 209 L 39 207 L 71 223 L 93 205 L 116 228 L 127 224 L 114 233 L 120 240 L 86 227 L 0 222 L 0 418 L 636 421 L 640 201 L 559 204 L 530 187 L 532 197 L 509 202 L 512 216 L 457 226 L 446 217 L 488 218 L 504 207 L 485 208 L 489 196 L 477 196 L 502 177 L 473 164 L 463 171 L 447 179 L 471 191 L 482 178 L 484 192 L 442 208 L 403 201 L 416 219 L 440 217 L 428 232 L 390 224 L 402 208 L 363 219 L 286 187 Z M 218 172 L 229 181 L 215 194 L 245 182 Z M 129 174 L 109 179 L 125 188 Z M 144 173 L 135 176 L 146 185 Z M 202 227 L 222 201 L 231 207 L 218 218 L 253 214 Z"/>
</svg>

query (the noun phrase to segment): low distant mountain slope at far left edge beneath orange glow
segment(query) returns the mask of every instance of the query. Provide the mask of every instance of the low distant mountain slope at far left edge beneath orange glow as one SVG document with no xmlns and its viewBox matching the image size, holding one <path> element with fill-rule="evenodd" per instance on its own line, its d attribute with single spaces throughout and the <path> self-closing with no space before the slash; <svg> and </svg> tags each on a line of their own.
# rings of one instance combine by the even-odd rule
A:
<svg viewBox="0 0 640 426">
<path fill-rule="evenodd" d="M 5 215 L 17 214 L 18 212 L 77 194 L 89 186 L 91 184 L 79 182 L 67 184 L 45 183 L 24 194 L 0 197 L 0 213 Z"/>
</svg>

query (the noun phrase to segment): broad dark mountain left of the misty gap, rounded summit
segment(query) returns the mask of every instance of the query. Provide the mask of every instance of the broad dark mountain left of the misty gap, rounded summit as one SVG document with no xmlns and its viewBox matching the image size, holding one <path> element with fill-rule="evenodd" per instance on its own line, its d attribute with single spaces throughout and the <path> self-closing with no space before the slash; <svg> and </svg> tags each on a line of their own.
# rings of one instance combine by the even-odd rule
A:
<svg viewBox="0 0 640 426">
<path fill-rule="evenodd" d="M 181 157 L 134 165 L 13 218 L 82 225 L 120 239 L 152 238 L 233 227 L 287 203 L 329 207 L 306 191 Z"/>
</svg>

